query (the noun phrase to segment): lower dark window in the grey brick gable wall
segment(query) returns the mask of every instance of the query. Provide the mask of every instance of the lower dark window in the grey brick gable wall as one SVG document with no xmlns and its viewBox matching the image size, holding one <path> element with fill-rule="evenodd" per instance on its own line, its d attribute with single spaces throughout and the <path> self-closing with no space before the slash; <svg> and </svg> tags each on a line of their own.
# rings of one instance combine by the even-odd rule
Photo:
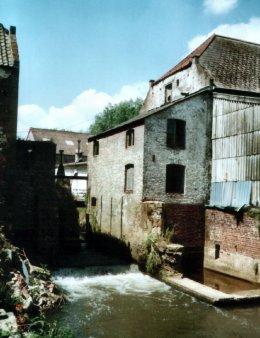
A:
<svg viewBox="0 0 260 338">
<path fill-rule="evenodd" d="M 185 167 L 179 164 L 166 166 L 166 192 L 184 193 Z"/>
</svg>

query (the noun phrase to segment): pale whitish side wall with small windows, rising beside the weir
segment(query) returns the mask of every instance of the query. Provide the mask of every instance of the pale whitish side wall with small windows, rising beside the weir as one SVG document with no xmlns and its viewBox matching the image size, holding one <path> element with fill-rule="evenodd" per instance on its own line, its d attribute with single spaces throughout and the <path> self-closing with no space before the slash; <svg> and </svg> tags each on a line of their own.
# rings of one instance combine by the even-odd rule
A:
<svg viewBox="0 0 260 338">
<path fill-rule="evenodd" d="M 143 125 L 134 129 L 134 145 L 126 147 L 126 130 L 98 139 L 99 154 L 89 144 L 88 206 L 92 226 L 128 239 L 140 224 L 143 191 Z M 134 165 L 133 192 L 125 191 L 125 166 Z"/>
</svg>

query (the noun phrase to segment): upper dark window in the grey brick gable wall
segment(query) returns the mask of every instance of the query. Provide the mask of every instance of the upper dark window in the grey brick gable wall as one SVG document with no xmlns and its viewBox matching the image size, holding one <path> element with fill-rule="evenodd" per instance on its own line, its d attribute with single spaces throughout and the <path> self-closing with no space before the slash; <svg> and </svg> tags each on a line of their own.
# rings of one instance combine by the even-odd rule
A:
<svg viewBox="0 0 260 338">
<path fill-rule="evenodd" d="M 186 122 L 177 119 L 167 120 L 167 147 L 185 148 Z"/>
</svg>

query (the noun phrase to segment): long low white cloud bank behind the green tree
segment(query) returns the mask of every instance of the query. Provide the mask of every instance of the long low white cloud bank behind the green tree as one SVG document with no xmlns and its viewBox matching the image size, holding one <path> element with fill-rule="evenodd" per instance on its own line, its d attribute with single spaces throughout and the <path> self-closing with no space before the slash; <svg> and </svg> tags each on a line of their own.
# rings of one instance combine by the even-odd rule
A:
<svg viewBox="0 0 260 338">
<path fill-rule="evenodd" d="M 144 98 L 148 83 L 138 82 L 123 86 L 118 93 L 109 95 L 87 89 L 65 107 L 50 107 L 47 111 L 35 104 L 22 105 L 18 109 L 18 137 L 26 138 L 30 127 L 86 131 L 95 116 L 109 104 Z"/>
</svg>

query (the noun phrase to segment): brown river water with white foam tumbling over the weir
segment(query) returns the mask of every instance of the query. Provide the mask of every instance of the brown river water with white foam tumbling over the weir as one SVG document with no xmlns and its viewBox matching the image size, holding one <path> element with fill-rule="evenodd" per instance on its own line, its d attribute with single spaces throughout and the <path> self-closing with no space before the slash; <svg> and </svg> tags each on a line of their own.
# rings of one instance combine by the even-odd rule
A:
<svg viewBox="0 0 260 338">
<path fill-rule="evenodd" d="M 260 337 L 260 306 L 217 308 L 135 265 L 61 269 L 54 280 L 69 302 L 51 319 L 78 338 Z"/>
</svg>

